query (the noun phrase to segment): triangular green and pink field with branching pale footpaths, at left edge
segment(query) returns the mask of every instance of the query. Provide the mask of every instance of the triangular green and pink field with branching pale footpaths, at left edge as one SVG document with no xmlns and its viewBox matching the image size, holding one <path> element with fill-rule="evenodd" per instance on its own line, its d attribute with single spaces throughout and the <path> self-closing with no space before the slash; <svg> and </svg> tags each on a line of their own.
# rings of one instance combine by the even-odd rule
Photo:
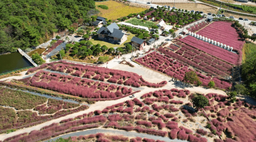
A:
<svg viewBox="0 0 256 142">
<path fill-rule="evenodd" d="M 0 97 L 0 130 L 31 123 L 33 124 L 30 126 L 33 126 L 38 124 L 37 122 L 40 120 L 63 116 L 63 114 L 67 115 L 88 108 L 88 106 L 47 99 L 9 88 L 0 88 Z"/>
</svg>

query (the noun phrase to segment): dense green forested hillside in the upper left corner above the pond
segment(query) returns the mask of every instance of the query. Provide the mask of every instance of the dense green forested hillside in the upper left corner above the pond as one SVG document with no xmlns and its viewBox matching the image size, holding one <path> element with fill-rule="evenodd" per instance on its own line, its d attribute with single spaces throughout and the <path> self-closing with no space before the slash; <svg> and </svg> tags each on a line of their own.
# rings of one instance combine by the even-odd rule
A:
<svg viewBox="0 0 256 142">
<path fill-rule="evenodd" d="M 48 41 L 78 20 L 90 20 L 93 0 L 1 0 L 0 53 Z"/>
</svg>

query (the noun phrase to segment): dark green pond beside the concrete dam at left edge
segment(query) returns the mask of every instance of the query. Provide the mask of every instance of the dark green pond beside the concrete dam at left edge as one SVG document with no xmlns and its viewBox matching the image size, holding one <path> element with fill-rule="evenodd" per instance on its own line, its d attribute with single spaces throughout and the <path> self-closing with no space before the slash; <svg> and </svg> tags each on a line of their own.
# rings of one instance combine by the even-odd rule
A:
<svg viewBox="0 0 256 142">
<path fill-rule="evenodd" d="M 0 55 L 0 74 L 30 66 L 32 64 L 19 52 Z"/>
</svg>

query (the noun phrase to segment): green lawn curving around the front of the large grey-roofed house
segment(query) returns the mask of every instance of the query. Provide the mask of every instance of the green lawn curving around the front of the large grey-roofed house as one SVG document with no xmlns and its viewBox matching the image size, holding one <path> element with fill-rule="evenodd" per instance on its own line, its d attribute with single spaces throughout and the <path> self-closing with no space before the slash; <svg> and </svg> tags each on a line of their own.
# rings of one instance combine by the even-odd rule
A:
<svg viewBox="0 0 256 142">
<path fill-rule="evenodd" d="M 129 33 L 129 32 L 128 32 Z M 124 43 L 127 43 L 127 42 L 131 42 L 131 39 L 133 36 L 135 36 L 134 34 L 132 33 L 129 33 L 130 35 L 127 36 L 127 40 L 124 42 Z M 124 47 L 124 43 L 122 43 L 121 45 L 118 45 L 118 44 L 112 44 L 112 43 L 108 43 L 108 42 L 105 42 L 105 41 L 100 41 L 98 39 L 98 36 L 94 36 L 92 39 L 90 39 L 90 41 L 96 45 L 96 44 L 100 44 L 101 46 L 102 45 L 106 45 L 108 48 L 114 48 L 114 47 Z"/>
</svg>

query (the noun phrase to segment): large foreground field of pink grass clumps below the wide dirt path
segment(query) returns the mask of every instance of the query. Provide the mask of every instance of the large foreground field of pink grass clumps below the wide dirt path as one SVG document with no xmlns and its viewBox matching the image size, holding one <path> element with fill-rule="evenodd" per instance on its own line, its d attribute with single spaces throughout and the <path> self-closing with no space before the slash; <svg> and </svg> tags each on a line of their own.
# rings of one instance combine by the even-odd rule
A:
<svg viewBox="0 0 256 142">
<path fill-rule="evenodd" d="M 236 136 L 238 142 L 240 139 L 244 142 L 253 141 L 256 136 L 256 128 L 252 127 L 256 125 L 254 121 L 256 106 L 239 99 L 231 103 L 226 100 L 227 96 L 220 94 L 202 95 L 208 99 L 209 105 L 197 112 L 189 101 L 194 97 L 189 90 L 176 88 L 158 90 L 144 94 L 141 96 L 141 101 L 135 98 L 124 103 L 113 104 L 103 110 L 95 110 L 74 119 L 62 120 L 60 123 L 53 123 L 41 130 L 35 130 L 33 133 L 13 136 L 4 141 L 31 142 L 47 136 L 62 135 L 70 130 L 74 132 L 99 126 L 126 131 L 135 130 L 139 133 L 168 136 L 170 139 L 189 142 L 214 141 L 217 138 L 214 137 L 215 134 L 221 135 L 227 142 L 231 142 L 230 136 Z M 208 122 L 207 119 L 212 121 Z M 217 142 L 223 141 L 217 140 Z"/>
</svg>

